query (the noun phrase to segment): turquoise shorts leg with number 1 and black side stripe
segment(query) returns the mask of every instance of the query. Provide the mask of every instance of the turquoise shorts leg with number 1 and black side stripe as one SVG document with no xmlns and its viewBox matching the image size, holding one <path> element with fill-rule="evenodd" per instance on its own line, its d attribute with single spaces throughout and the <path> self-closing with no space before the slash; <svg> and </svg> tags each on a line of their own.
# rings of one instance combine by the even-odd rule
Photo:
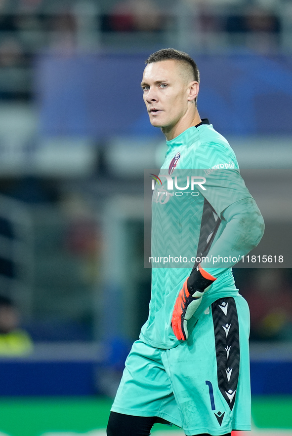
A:
<svg viewBox="0 0 292 436">
<path fill-rule="evenodd" d="M 250 430 L 249 308 L 241 296 L 215 301 L 189 339 L 165 350 L 186 435 Z"/>
</svg>

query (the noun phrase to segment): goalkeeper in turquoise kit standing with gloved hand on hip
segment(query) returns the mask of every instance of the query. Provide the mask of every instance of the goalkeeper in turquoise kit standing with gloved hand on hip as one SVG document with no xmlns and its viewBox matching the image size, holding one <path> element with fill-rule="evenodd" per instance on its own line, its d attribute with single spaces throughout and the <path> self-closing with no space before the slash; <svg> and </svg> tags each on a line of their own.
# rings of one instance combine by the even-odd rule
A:
<svg viewBox="0 0 292 436">
<path fill-rule="evenodd" d="M 196 169 L 205 180 L 189 201 L 156 184 L 152 255 L 201 262 L 152 268 L 149 318 L 125 362 L 107 435 L 150 435 L 163 422 L 187 436 L 230 436 L 250 430 L 249 308 L 232 266 L 259 243 L 264 223 L 230 145 L 200 118 L 193 59 L 162 49 L 146 64 L 144 102 L 167 139 L 160 179 Z M 226 263 L 208 261 L 219 256 Z"/>
</svg>

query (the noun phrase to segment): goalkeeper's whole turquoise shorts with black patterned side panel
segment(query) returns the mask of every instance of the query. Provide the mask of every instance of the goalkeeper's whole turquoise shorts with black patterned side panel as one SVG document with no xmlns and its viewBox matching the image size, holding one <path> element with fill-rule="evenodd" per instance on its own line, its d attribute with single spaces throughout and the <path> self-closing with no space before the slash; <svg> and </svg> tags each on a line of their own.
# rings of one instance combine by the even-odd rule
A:
<svg viewBox="0 0 292 436">
<path fill-rule="evenodd" d="M 157 416 L 186 435 L 250 430 L 250 313 L 241 296 L 215 301 L 187 341 L 134 342 L 112 411 Z"/>
</svg>

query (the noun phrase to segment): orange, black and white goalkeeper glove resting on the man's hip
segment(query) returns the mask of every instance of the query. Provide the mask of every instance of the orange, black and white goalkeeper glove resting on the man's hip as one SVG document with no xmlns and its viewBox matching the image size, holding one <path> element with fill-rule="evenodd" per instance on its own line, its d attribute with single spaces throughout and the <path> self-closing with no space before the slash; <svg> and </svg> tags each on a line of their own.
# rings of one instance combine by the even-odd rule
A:
<svg viewBox="0 0 292 436">
<path fill-rule="evenodd" d="M 206 288 L 216 280 L 200 266 L 186 279 L 176 298 L 171 319 L 173 332 L 177 339 L 185 341 L 189 337 L 187 322 L 201 304 Z"/>
</svg>

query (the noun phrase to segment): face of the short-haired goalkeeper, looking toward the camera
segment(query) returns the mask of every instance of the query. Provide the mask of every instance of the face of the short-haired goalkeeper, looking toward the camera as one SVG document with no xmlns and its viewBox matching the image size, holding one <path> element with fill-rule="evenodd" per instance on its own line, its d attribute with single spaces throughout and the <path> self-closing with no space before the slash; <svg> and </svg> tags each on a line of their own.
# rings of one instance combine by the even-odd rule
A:
<svg viewBox="0 0 292 436">
<path fill-rule="evenodd" d="M 141 87 L 153 126 L 170 130 L 179 123 L 190 104 L 189 83 L 178 61 L 154 62 L 146 66 Z"/>
</svg>

